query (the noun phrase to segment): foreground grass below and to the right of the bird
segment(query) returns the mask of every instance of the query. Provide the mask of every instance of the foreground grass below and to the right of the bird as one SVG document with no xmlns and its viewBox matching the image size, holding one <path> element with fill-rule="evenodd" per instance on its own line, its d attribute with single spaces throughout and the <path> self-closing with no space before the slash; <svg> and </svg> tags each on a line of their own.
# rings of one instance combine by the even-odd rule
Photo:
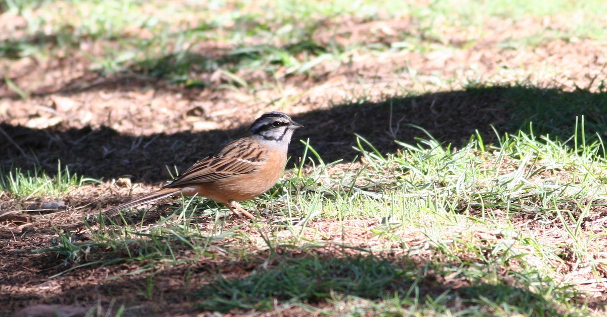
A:
<svg viewBox="0 0 607 317">
<path fill-rule="evenodd" d="M 316 166 L 300 166 L 270 191 L 274 197 L 248 205 L 273 202 L 267 206 L 279 221 L 228 228 L 214 205 L 185 199 L 158 222 L 101 223 L 88 242 L 66 232 L 56 247 L 37 251 L 64 257 L 61 274 L 119 263 L 137 264 L 128 275 L 149 274 L 215 257 L 266 258 L 245 278 L 211 274 L 191 299 L 204 310 L 278 304 L 333 313 L 346 305 L 339 312 L 354 315 L 586 315 L 575 287 L 605 271 L 596 245 L 605 244 L 602 230 L 587 226 L 607 199 L 606 162 L 602 143 L 572 138 L 576 148 L 518 132 L 497 145 L 472 138 L 458 150 L 429 139 L 388 155 L 361 139 L 364 159 L 351 166 L 326 164 L 308 145 Z M 337 231 L 327 230 L 341 239 L 314 227 L 330 219 Z M 348 219 L 377 220 L 352 231 Z M 535 219 L 532 228 L 521 227 L 523 219 Z M 564 279 L 572 259 L 588 271 Z"/>
</svg>

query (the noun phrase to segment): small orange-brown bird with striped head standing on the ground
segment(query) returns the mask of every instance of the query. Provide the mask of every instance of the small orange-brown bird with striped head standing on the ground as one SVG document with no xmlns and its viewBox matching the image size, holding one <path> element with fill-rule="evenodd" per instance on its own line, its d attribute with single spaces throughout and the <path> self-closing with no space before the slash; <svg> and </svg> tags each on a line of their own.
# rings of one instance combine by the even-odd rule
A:
<svg viewBox="0 0 607 317">
<path fill-rule="evenodd" d="M 287 163 L 291 136 L 302 125 L 282 112 L 263 114 L 249 128 L 249 135 L 234 140 L 217 154 L 200 160 L 177 179 L 152 193 L 115 206 L 103 214 L 172 196 L 203 196 L 255 219 L 239 202 L 257 197 L 272 188 Z M 236 209 L 236 210 L 234 210 Z"/>
</svg>

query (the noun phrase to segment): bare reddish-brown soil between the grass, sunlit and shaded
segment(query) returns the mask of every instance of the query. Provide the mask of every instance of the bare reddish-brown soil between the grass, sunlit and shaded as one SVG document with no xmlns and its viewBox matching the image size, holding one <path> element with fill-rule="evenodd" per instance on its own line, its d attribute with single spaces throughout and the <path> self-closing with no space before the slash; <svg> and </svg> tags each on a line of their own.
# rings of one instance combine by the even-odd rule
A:
<svg viewBox="0 0 607 317">
<path fill-rule="evenodd" d="M 374 37 L 389 42 L 390 32 L 385 30 L 413 27 L 412 22 L 406 20 L 383 23 L 385 26 L 345 23 L 336 32 L 343 35 L 338 39 L 345 44 Z M 561 21 L 495 20 L 487 26 L 487 36 L 471 45 L 462 43 L 465 40 L 454 32 L 449 38 L 452 46 L 448 50 L 356 56 L 351 63 L 337 67 L 321 65 L 326 70 L 320 71 L 322 75 L 317 77 L 282 77 L 280 89 L 260 89 L 255 94 L 245 89 L 185 88 L 148 78 L 136 70 L 104 76 L 90 70 L 90 61 L 78 53 L 48 60 L 0 61 L 7 76 L 31 92 L 30 98 L 22 100 L 4 81 L 0 83 L 0 165 L 25 170 L 39 165 L 54 174 L 57 163 L 61 162 L 72 172 L 104 181 L 101 185 L 87 185 L 73 191 L 63 198 L 65 207 L 50 213 L 27 209 L 52 200 L 52 197 L 19 200 L 8 193 L 0 195 L 0 214 L 15 211 L 0 219 L 0 313 L 16 312 L 33 304 L 100 305 L 113 312 L 120 304 L 126 304 L 128 316 L 210 313 L 200 312 L 191 305 L 189 293 L 212 281 L 217 270 L 227 278 L 247 276 L 263 264 L 269 256 L 267 252 L 252 251 L 246 259 L 226 259 L 217 255 L 194 264 L 160 265 L 154 271 L 155 288 L 151 300 L 144 294 L 146 276 L 143 274 L 107 279 L 137 270 L 136 265 L 84 267 L 50 279 L 49 276 L 66 269 L 64 259 L 31 250 L 53 245 L 52 239 L 58 235 L 50 225 L 75 222 L 83 215 L 95 214 L 131 195 L 154 188 L 169 179 L 165 166 L 176 166 L 179 170 L 187 168 L 212 154 L 226 141 L 245 133 L 248 124 L 266 111 L 287 112 L 304 124 L 305 128 L 297 131 L 296 140 L 309 138 L 325 162 L 355 160 L 359 155 L 352 149 L 356 145 L 355 133 L 367 138 L 384 153 L 398 151 L 399 146 L 393 140 L 414 143 L 415 137 L 427 138 L 423 131 L 407 124 L 422 127 L 437 140 L 454 146 L 460 146 L 475 131 L 490 142 L 495 137 L 491 125 L 501 131 L 511 129 L 509 122 L 515 114 L 503 107 L 511 101 L 504 100 L 503 90 L 500 90 L 507 87 L 487 88 L 474 94 L 452 87 L 418 97 L 393 96 L 402 95 L 402 89 L 430 85 L 437 74 L 456 82 L 468 75 L 478 75 L 483 81 L 529 80 L 559 87 L 563 93 L 573 91 L 576 86 L 589 87 L 592 78 L 607 66 L 603 43 L 589 39 L 554 39 L 527 49 L 498 45 L 504 39 L 520 36 L 534 27 L 558 29 L 562 25 Z M 319 32 L 317 36 L 322 41 L 327 35 Z M 204 43 L 200 47 L 212 49 Z M 201 49 L 200 53 L 221 52 L 219 49 L 202 52 Z M 415 76 L 397 71 L 407 64 L 415 68 Z M 520 73 L 532 75 L 521 78 Z M 273 81 L 264 73 L 239 75 L 253 86 Z M 213 73 L 198 73 L 197 76 L 208 78 L 209 82 L 225 80 L 216 78 L 217 74 Z M 284 103 L 286 106 L 276 105 L 276 101 L 285 100 L 288 101 Z M 303 148 L 294 141 L 290 148 L 294 158 L 291 163 L 297 161 Z M 121 177 L 131 179 L 137 186 L 110 183 Z M 269 217 L 268 221 L 271 220 Z M 601 230 L 603 218 L 589 219 L 588 228 Z M 228 223 L 231 226 L 244 224 L 243 230 L 247 230 L 247 226 L 250 228 L 242 221 Z M 312 228 L 330 242 L 326 250 L 319 249 L 317 253 L 342 254 L 334 243 L 368 247 L 367 229 L 379 223 L 368 219 L 348 222 L 351 231 L 347 236 L 343 236 L 341 225 L 334 225 L 332 220 L 312 223 Z M 522 225 L 538 226 L 538 220 L 521 219 Z M 421 232 L 403 234 L 409 236 L 410 248 L 427 243 Z M 86 239 L 86 235 L 81 239 Z M 229 244 L 229 241 L 222 243 Z M 285 257 L 305 256 L 290 254 L 288 250 L 278 251 Z M 384 256 L 396 262 L 403 254 Z M 430 256 L 432 254 L 421 252 L 410 258 L 421 265 L 424 257 Z M 469 286 L 436 277 L 426 278 L 424 283 L 428 292 L 438 293 L 445 288 Z M 590 300 L 591 305 L 603 301 L 604 293 L 604 289 L 595 290 L 597 296 Z M 228 315 L 248 313 L 231 312 Z M 302 313 L 310 312 L 291 307 L 262 315 L 297 316 Z"/>
</svg>

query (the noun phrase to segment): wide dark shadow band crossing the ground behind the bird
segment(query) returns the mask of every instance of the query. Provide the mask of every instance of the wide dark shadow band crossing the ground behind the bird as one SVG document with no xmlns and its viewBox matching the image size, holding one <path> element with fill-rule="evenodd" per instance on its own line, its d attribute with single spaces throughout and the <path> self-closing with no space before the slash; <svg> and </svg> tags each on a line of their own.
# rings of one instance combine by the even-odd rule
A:
<svg viewBox="0 0 607 317">
<path fill-rule="evenodd" d="M 393 153 L 400 148 L 394 140 L 415 143 L 429 138 L 453 146 L 466 144 L 478 132 L 485 143 L 500 134 L 528 130 L 534 121 L 536 134 L 568 138 L 574 134 L 576 117 L 585 115 L 587 135 L 607 131 L 607 94 L 586 90 L 564 92 L 532 86 L 473 87 L 462 91 L 390 97 L 379 103 L 360 101 L 322 111 L 294 115 L 305 125 L 294 135 L 290 155 L 302 155 L 309 139 L 325 162 L 356 159 L 355 134 L 366 138 L 378 151 Z M 253 118 L 252 118 L 253 119 Z M 412 126 L 414 125 L 414 126 Z M 110 128 L 30 129 L 0 124 L 2 168 L 41 168 L 55 174 L 57 164 L 95 179 L 132 177 L 134 182 L 170 179 L 166 166 L 182 171 L 227 141 L 245 134 L 248 126 L 228 131 L 180 132 L 145 137 L 121 135 Z M 293 161 L 291 161 L 293 162 Z"/>
</svg>

